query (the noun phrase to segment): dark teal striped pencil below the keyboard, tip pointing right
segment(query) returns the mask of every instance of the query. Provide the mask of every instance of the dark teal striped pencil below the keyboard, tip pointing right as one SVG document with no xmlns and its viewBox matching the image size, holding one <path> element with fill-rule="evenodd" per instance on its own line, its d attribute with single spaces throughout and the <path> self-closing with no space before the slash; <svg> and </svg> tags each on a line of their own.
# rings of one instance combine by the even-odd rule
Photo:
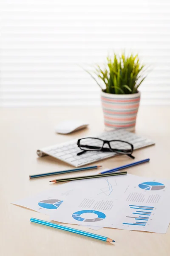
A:
<svg viewBox="0 0 170 256">
<path fill-rule="evenodd" d="M 51 175 L 57 175 L 57 174 L 64 174 L 68 172 L 88 171 L 92 169 L 98 169 L 100 167 L 102 166 L 89 166 L 89 167 L 83 167 L 83 168 L 77 168 L 77 169 L 71 169 L 71 170 L 65 170 L 65 171 L 59 171 L 59 172 L 41 173 L 41 174 L 29 175 L 29 178 L 33 179 L 33 178 L 39 178 L 39 177 L 45 177 L 45 176 L 51 176 Z"/>
</svg>

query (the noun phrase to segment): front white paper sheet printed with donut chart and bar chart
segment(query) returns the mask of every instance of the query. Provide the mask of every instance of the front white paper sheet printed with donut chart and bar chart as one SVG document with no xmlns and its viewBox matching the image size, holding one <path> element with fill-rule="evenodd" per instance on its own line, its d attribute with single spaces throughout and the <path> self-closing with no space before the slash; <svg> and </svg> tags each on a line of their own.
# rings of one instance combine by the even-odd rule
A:
<svg viewBox="0 0 170 256">
<path fill-rule="evenodd" d="M 51 218 L 73 224 L 166 233 L 170 222 L 170 181 L 135 175 L 128 175 L 127 180 L 126 184 L 122 182 L 121 195 L 117 189 L 117 197 L 114 193 L 113 197 L 73 193 Z M 91 191 L 96 192 L 96 186 Z"/>
</svg>

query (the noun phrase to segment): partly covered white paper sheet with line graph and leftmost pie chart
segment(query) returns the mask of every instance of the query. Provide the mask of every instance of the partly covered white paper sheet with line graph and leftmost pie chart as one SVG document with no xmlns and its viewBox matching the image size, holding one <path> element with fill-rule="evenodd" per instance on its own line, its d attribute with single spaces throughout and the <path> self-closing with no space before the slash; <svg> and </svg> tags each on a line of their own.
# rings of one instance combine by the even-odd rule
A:
<svg viewBox="0 0 170 256">
<path fill-rule="evenodd" d="M 99 171 L 96 173 L 98 172 Z M 54 215 L 54 212 L 58 210 L 58 207 L 61 206 L 63 201 L 71 194 L 73 197 L 77 196 L 77 193 L 79 193 L 80 195 L 117 198 L 122 192 L 119 186 L 127 183 L 128 178 L 130 178 L 130 176 L 128 177 L 128 175 L 125 175 L 89 180 L 76 180 L 64 184 L 51 184 L 51 189 L 42 191 L 37 195 L 28 198 L 15 201 L 12 204 L 51 216 Z M 87 227 L 89 226 L 87 225 Z M 102 227 L 90 226 L 89 228 L 99 230 Z"/>
</svg>

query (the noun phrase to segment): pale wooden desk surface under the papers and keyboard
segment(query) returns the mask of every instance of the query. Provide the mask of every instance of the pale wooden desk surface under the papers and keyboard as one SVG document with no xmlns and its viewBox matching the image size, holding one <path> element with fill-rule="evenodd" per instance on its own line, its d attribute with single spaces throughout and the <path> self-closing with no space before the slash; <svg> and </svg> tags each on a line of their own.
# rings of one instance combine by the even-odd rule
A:
<svg viewBox="0 0 170 256">
<path fill-rule="evenodd" d="M 90 126 L 71 135 L 56 134 L 55 126 L 65 119 L 87 120 Z M 109 228 L 92 231 L 115 239 L 115 245 L 111 245 L 30 224 L 31 217 L 48 221 L 48 216 L 10 204 L 49 188 L 49 177 L 29 180 L 30 174 L 71 169 L 52 157 L 38 158 L 36 150 L 103 131 L 101 108 L 1 108 L 0 120 L 0 256 L 170 255 L 170 228 L 166 235 Z M 136 133 L 153 139 L 156 145 L 135 151 L 136 160 L 149 157 L 150 163 L 128 172 L 170 178 L 170 107 L 141 106 Z M 127 157 L 119 156 L 98 163 L 103 168 L 113 168 L 129 162 Z M 91 232 L 88 228 L 79 228 Z"/>
</svg>

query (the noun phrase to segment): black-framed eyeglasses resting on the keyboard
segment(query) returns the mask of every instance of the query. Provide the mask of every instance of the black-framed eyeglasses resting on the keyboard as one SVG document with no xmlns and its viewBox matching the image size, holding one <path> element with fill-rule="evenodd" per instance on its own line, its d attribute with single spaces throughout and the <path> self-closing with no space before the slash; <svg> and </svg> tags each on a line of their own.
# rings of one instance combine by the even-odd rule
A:
<svg viewBox="0 0 170 256">
<path fill-rule="evenodd" d="M 103 147 L 107 144 L 107 147 Z M 126 154 L 131 158 L 133 153 L 133 145 L 123 140 L 101 140 L 99 138 L 87 137 L 77 141 L 77 145 L 83 151 L 77 155 L 81 155 L 86 151 L 102 151 L 102 152 L 115 152 L 117 154 Z"/>
</svg>

